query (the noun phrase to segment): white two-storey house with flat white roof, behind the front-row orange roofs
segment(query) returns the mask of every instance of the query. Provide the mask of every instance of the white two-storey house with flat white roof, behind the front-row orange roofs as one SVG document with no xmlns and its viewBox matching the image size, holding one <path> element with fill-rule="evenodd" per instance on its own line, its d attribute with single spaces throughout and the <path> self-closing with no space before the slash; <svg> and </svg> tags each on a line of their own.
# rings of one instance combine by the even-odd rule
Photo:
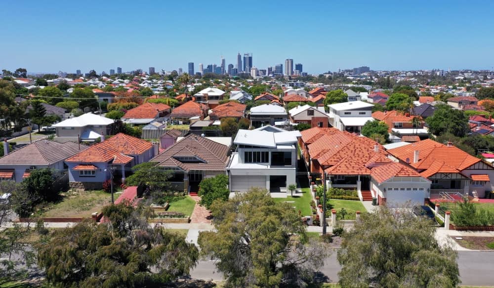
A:
<svg viewBox="0 0 494 288">
<path fill-rule="evenodd" d="M 374 105 L 362 101 L 352 101 L 328 105 L 329 124 L 338 130 L 360 134 L 362 126 L 373 121 Z"/>
</svg>

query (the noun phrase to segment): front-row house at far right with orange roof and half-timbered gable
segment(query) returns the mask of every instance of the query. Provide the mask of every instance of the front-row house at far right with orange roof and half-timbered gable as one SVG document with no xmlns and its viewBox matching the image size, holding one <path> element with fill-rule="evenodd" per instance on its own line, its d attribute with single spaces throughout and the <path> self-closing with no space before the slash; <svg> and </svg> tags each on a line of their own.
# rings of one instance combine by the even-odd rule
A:
<svg viewBox="0 0 494 288">
<path fill-rule="evenodd" d="M 426 139 L 387 150 L 389 158 L 432 181 L 431 198 L 484 198 L 493 191 L 494 167 L 453 146 Z"/>
</svg>

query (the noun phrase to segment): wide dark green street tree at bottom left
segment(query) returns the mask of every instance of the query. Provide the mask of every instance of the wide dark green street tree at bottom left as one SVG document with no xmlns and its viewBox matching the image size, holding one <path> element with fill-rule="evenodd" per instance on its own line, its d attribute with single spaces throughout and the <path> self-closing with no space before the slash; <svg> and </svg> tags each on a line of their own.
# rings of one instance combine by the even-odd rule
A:
<svg viewBox="0 0 494 288">
<path fill-rule="evenodd" d="M 55 287 L 165 287 L 189 274 L 198 249 L 183 236 L 150 228 L 128 203 L 106 206 L 108 222 L 59 229 L 38 249 L 38 265 Z"/>
</svg>

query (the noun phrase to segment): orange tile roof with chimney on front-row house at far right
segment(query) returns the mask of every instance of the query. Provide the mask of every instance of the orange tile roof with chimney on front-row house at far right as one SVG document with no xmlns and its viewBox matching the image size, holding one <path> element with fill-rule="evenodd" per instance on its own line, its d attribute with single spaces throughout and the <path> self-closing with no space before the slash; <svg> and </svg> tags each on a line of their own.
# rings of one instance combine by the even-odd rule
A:
<svg viewBox="0 0 494 288">
<path fill-rule="evenodd" d="M 412 163 L 414 151 L 419 151 L 417 163 Z M 462 171 L 481 161 L 454 146 L 448 147 L 430 139 L 390 149 L 388 153 L 419 171 L 424 170 L 422 175 L 426 177 L 443 171 L 445 173 Z"/>
</svg>

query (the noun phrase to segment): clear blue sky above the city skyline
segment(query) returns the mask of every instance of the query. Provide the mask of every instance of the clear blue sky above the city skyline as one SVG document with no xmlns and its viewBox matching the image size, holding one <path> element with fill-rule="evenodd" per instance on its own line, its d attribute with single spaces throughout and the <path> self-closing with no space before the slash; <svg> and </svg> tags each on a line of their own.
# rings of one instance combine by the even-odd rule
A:
<svg viewBox="0 0 494 288">
<path fill-rule="evenodd" d="M 494 1 L 3 1 L 0 69 L 491 69 Z"/>
</svg>

